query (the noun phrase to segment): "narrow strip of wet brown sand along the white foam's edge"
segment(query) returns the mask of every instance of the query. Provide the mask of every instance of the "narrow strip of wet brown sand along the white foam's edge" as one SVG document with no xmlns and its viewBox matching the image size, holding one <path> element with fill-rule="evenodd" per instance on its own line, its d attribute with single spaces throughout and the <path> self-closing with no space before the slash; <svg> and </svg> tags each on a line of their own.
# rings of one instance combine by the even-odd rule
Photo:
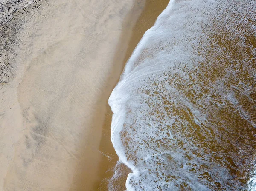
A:
<svg viewBox="0 0 256 191">
<path fill-rule="evenodd" d="M 105 121 L 102 125 L 102 138 L 99 147 L 99 151 L 102 153 L 100 165 L 98 167 L 99 179 L 94 184 L 93 190 L 95 191 L 108 190 L 108 182 L 113 176 L 114 167 L 118 161 L 118 156 L 116 155 L 110 140 L 110 126 L 113 113 L 108 105 L 108 97 L 110 96 L 113 88 L 116 86 L 122 70 L 125 67 L 125 63 L 131 56 L 134 48 L 143 37 L 145 31 L 153 26 L 158 15 L 166 8 L 168 3 L 169 0 L 146 0 L 145 7 L 143 7 L 143 2 L 138 0 L 134 4 L 131 12 L 127 15 L 123 24 L 122 36 L 119 39 L 119 44 L 116 48 L 116 56 L 113 60 L 113 69 L 109 79 L 107 80 L 107 84 L 105 85 L 107 88 L 105 88 L 105 90 L 102 92 L 102 97 L 99 100 L 99 102 L 104 103 L 104 105 L 103 108 L 99 108 L 98 112 L 95 114 L 95 123 L 98 122 L 99 117 L 105 115 Z M 143 9 L 142 12 L 141 9 Z M 140 12 L 140 17 L 137 19 L 137 14 Z M 133 22 L 135 21 L 136 24 L 133 25 Z M 83 160 L 81 160 L 81 164 L 79 166 L 79 172 L 73 179 L 77 191 L 87 191 L 87 180 L 90 179 L 87 164 L 92 163 L 93 161 L 93 158 L 88 158 L 87 154 L 91 152 L 95 151 L 84 152 Z M 93 166 L 91 167 L 92 168 L 89 171 L 95 171 L 95 168 Z M 129 172 L 125 170 L 127 170 L 127 168 L 124 167 L 122 179 L 116 180 L 118 185 L 116 185 L 115 191 L 125 190 L 125 181 Z"/>
</svg>

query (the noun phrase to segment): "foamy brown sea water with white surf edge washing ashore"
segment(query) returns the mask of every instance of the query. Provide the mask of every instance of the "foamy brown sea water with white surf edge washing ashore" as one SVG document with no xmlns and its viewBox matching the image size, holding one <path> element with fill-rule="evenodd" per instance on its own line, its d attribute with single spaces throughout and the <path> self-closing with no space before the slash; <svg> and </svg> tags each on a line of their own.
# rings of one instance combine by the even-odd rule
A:
<svg viewBox="0 0 256 191">
<path fill-rule="evenodd" d="M 127 191 L 255 191 L 256 1 L 171 0 L 109 105 Z"/>
</svg>

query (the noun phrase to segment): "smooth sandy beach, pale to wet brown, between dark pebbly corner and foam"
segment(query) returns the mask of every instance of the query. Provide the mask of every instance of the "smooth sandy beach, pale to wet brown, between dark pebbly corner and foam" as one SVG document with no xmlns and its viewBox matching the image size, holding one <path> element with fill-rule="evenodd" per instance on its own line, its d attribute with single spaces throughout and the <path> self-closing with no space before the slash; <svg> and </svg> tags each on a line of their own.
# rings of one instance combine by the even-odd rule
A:
<svg viewBox="0 0 256 191">
<path fill-rule="evenodd" d="M 107 188 L 117 161 L 108 97 L 167 3 L 55 0 L 25 18 L 16 75 L 0 89 L 1 190 Z"/>
</svg>

